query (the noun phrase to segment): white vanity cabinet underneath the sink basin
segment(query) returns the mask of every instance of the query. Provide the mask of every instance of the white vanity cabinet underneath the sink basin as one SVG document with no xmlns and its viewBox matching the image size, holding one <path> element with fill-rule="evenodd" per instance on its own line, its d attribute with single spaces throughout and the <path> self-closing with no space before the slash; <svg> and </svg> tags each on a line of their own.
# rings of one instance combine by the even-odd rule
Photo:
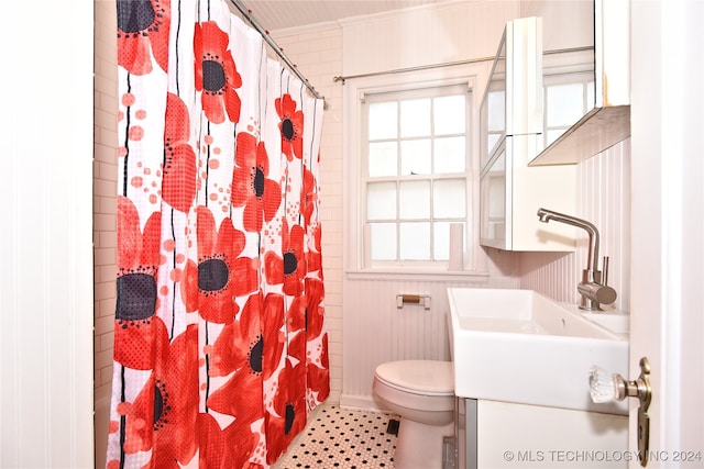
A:
<svg viewBox="0 0 704 469">
<path fill-rule="evenodd" d="M 458 469 L 626 469 L 628 416 L 457 398 Z"/>
</svg>

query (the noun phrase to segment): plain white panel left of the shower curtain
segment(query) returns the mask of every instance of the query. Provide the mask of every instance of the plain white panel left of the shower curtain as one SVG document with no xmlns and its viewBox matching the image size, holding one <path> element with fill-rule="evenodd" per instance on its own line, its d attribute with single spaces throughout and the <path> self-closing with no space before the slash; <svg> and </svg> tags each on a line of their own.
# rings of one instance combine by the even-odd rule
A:
<svg viewBox="0 0 704 469">
<path fill-rule="evenodd" d="M 92 13 L 92 0 L 2 5 L 0 41 L 22 44 L 2 56 L 25 90 L 3 100 L 3 468 L 94 464 Z"/>
</svg>

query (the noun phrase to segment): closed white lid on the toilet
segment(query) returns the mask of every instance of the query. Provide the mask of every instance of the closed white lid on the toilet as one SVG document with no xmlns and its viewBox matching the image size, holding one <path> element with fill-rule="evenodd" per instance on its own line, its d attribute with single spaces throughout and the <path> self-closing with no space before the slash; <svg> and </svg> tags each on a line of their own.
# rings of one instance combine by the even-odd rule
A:
<svg viewBox="0 0 704 469">
<path fill-rule="evenodd" d="M 376 376 L 387 384 L 409 392 L 454 393 L 452 361 L 387 361 L 376 367 Z"/>
</svg>

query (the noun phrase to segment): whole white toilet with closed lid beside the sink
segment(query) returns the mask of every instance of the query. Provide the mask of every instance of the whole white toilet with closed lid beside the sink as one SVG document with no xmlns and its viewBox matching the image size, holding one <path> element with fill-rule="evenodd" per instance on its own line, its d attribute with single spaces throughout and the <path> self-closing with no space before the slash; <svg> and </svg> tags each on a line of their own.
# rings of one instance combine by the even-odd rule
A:
<svg viewBox="0 0 704 469">
<path fill-rule="evenodd" d="M 400 416 L 394 466 L 441 469 L 443 438 L 454 434 L 452 362 L 382 364 L 376 367 L 373 390 L 381 407 Z"/>
</svg>

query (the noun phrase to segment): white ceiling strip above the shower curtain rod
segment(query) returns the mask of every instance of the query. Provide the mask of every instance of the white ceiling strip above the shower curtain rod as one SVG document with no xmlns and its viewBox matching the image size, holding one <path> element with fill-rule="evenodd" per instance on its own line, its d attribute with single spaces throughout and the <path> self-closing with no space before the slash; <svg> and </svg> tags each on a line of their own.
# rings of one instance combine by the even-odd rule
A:
<svg viewBox="0 0 704 469">
<path fill-rule="evenodd" d="M 457 0 L 240 0 L 267 31 L 448 1 Z"/>
</svg>

